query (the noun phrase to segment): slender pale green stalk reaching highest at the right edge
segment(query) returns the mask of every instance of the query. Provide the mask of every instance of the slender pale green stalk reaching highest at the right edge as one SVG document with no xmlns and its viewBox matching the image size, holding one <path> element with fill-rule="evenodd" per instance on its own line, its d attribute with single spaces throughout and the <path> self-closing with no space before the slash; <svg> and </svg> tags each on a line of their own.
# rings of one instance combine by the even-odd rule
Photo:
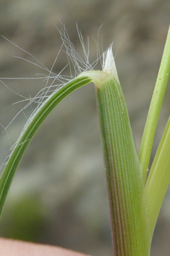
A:
<svg viewBox="0 0 170 256">
<path fill-rule="evenodd" d="M 163 51 L 161 66 L 156 80 L 156 86 L 150 102 L 148 117 L 145 123 L 143 139 L 140 145 L 139 159 L 143 169 L 143 179 L 146 180 L 147 170 L 150 162 L 150 154 L 153 146 L 153 139 L 156 133 L 159 113 L 165 94 L 166 85 L 170 73 L 170 27 L 166 38 L 166 44 Z"/>
</svg>

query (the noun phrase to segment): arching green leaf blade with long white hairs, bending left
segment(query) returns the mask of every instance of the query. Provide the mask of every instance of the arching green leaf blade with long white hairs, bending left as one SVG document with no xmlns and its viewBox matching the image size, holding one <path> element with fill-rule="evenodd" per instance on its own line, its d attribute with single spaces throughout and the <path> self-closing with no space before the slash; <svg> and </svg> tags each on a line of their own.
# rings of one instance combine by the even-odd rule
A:
<svg viewBox="0 0 170 256">
<path fill-rule="evenodd" d="M 9 191 L 9 187 L 12 183 L 12 179 L 14 177 L 14 173 L 17 170 L 17 167 L 22 159 L 22 156 L 27 149 L 28 144 L 30 144 L 31 139 L 35 132 L 38 130 L 43 120 L 47 117 L 47 115 L 56 107 L 62 99 L 64 99 L 67 95 L 71 94 L 73 91 L 77 90 L 82 86 L 91 82 L 91 78 L 87 77 L 87 75 L 75 78 L 71 80 L 69 83 L 66 83 L 63 87 L 61 87 L 58 91 L 48 97 L 45 102 L 38 108 L 33 117 L 28 120 L 25 125 L 24 131 L 21 133 L 19 139 L 17 140 L 16 146 L 12 151 L 12 154 L 9 157 L 6 168 L 1 175 L 0 178 L 0 216 L 2 212 L 2 208 L 4 206 L 4 201 L 7 197 L 7 193 Z"/>
</svg>

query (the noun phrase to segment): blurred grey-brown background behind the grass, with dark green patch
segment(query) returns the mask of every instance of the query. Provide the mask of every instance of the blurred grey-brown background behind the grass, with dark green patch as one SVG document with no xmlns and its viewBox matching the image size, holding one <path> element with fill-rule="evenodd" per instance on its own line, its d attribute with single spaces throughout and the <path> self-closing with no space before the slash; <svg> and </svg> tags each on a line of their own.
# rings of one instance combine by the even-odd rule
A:
<svg viewBox="0 0 170 256">
<path fill-rule="evenodd" d="M 119 79 L 139 149 L 150 97 L 161 61 L 170 20 L 169 0 L 1 0 L 0 33 L 30 52 L 49 69 L 61 46 L 59 31 L 66 25 L 75 49 L 82 53 L 76 22 L 87 42 L 90 61 L 96 59 L 98 30 L 103 49 L 114 41 Z M 55 26 L 56 25 L 56 26 Z M 0 37 L 0 76 L 35 77 L 38 67 L 24 51 Z M 59 73 L 67 64 L 64 52 L 54 66 Z M 66 70 L 64 74 L 69 74 Z M 48 75 L 48 74 L 46 74 Z M 41 80 L 3 80 L 26 97 L 33 97 L 44 86 Z M 0 123 L 6 127 L 24 103 L 3 84 L 0 85 Z M 153 155 L 169 116 L 170 89 L 156 131 Z M 12 105 L 13 104 L 13 105 Z M 34 106 L 33 106 L 34 107 Z M 0 136 L 0 160 L 30 115 L 18 115 Z M 0 127 L 1 132 L 4 131 Z M 151 255 L 170 252 L 170 191 L 166 194 L 153 237 Z M 56 244 L 90 255 L 112 255 L 109 209 L 101 152 L 98 117 L 93 86 L 85 86 L 65 99 L 41 126 L 25 153 L 5 205 L 0 235 Z"/>
</svg>

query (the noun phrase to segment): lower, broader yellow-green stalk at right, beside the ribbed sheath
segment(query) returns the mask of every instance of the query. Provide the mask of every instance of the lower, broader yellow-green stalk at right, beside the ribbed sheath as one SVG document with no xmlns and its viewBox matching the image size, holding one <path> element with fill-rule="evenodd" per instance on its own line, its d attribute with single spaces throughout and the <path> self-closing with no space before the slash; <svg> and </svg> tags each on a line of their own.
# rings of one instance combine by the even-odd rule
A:
<svg viewBox="0 0 170 256">
<path fill-rule="evenodd" d="M 166 124 L 161 142 L 158 146 L 156 156 L 150 168 L 145 185 L 145 195 L 148 205 L 148 215 L 150 219 L 150 232 L 153 236 L 153 231 L 156 226 L 158 213 L 161 209 L 163 198 L 170 181 L 170 117 Z"/>
</svg>

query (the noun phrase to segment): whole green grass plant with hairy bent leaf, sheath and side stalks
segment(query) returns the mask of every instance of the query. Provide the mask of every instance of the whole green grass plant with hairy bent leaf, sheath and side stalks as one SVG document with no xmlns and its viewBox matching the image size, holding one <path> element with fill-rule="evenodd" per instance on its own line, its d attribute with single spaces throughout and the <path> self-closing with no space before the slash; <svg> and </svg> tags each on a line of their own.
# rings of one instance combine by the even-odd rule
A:
<svg viewBox="0 0 170 256">
<path fill-rule="evenodd" d="M 170 119 L 146 178 L 158 117 L 170 73 L 170 30 L 150 102 L 139 156 L 132 137 L 112 46 L 103 53 L 102 70 L 98 71 L 93 68 L 95 62 L 90 65 L 88 61 L 88 53 L 85 52 L 80 33 L 85 61 L 75 51 L 64 26 L 60 30 L 60 35 L 66 46 L 67 57 L 75 68 L 75 78 L 63 78 L 61 74 L 55 75 L 51 69 L 47 78 L 47 82 L 50 78 L 54 79 L 51 86 L 46 86 L 32 100 L 32 102 L 38 102 L 38 107 L 27 120 L 19 139 L 14 144 L 0 178 L 0 214 L 14 173 L 43 120 L 67 95 L 93 82 L 106 168 L 114 256 L 149 256 L 156 220 L 170 180 Z M 60 81 L 59 87 L 54 86 L 56 81 Z"/>
</svg>

